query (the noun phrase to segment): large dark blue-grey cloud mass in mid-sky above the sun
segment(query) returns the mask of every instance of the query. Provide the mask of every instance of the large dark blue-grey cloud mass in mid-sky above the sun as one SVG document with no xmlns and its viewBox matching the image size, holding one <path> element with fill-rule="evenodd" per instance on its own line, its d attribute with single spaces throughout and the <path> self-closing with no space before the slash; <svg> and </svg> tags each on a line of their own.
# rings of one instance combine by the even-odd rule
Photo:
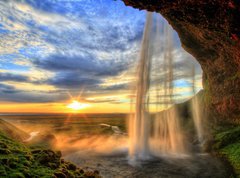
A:
<svg viewBox="0 0 240 178">
<path fill-rule="evenodd" d="M 86 90 L 102 90 L 101 84 L 105 78 L 118 76 L 128 70 L 126 61 L 114 59 L 98 59 L 93 54 L 78 55 L 53 54 L 45 59 L 32 61 L 36 68 L 54 72 L 54 76 L 39 83 L 53 85 L 57 88 Z M 104 87 L 105 90 L 117 90 L 123 86 Z"/>
</svg>

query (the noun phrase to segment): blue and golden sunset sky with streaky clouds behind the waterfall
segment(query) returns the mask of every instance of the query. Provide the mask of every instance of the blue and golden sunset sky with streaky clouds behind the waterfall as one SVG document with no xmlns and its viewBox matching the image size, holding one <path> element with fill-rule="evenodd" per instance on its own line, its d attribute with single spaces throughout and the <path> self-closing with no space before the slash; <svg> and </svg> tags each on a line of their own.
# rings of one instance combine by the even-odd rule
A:
<svg viewBox="0 0 240 178">
<path fill-rule="evenodd" d="M 145 17 L 120 0 L 1 0 L 0 113 L 71 112 L 73 100 L 86 106 L 79 112 L 129 112 Z M 175 72 L 188 76 L 193 64 L 201 89 L 176 33 L 174 44 Z M 181 102 L 189 77 L 176 78 Z"/>
</svg>

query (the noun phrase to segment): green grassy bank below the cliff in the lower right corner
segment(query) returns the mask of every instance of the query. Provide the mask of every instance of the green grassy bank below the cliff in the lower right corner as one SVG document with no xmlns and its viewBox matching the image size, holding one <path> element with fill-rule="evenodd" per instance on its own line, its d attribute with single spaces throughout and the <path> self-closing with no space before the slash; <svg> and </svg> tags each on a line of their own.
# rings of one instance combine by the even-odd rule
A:
<svg viewBox="0 0 240 178">
<path fill-rule="evenodd" d="M 230 163 L 240 178 L 240 126 L 219 127 L 214 135 L 214 151 Z"/>
</svg>

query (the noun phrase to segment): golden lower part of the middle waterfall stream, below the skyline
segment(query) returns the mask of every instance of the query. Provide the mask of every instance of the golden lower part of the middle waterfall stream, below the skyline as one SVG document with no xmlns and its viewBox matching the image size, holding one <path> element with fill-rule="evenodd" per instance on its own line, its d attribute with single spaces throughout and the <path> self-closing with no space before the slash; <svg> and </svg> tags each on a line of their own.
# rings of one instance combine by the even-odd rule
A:
<svg viewBox="0 0 240 178">
<path fill-rule="evenodd" d="M 181 156 L 187 153 L 181 124 L 174 106 L 156 115 L 152 153 L 156 156 Z"/>
</svg>

